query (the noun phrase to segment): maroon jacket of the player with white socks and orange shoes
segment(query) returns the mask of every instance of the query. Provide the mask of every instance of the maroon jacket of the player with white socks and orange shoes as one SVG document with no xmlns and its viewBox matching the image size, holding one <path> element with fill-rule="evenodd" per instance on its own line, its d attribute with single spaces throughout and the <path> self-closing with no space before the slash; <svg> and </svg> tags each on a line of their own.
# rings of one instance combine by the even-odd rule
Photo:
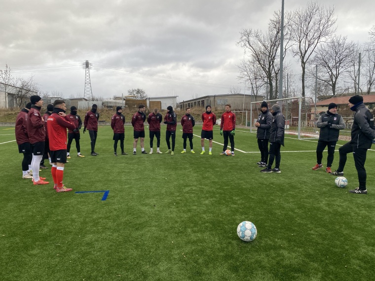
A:
<svg viewBox="0 0 375 281">
<path fill-rule="evenodd" d="M 27 133 L 29 135 L 30 143 L 45 141 L 45 129 L 43 121 L 44 120 L 41 117 L 37 106 L 32 105 L 27 119 Z"/>
</svg>

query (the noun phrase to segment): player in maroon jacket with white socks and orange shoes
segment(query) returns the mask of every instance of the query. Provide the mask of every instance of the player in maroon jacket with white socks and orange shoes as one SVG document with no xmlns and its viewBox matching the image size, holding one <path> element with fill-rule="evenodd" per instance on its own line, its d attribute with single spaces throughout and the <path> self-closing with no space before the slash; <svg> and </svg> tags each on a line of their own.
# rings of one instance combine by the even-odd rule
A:
<svg viewBox="0 0 375 281">
<path fill-rule="evenodd" d="M 48 184 L 44 177 L 39 176 L 39 166 L 44 154 L 45 129 L 44 119 L 40 115 L 40 108 L 43 100 L 35 95 L 30 97 L 31 109 L 27 118 L 27 133 L 32 146 L 33 159 L 31 160 L 31 169 L 33 170 L 33 181 L 35 185 Z"/>
</svg>

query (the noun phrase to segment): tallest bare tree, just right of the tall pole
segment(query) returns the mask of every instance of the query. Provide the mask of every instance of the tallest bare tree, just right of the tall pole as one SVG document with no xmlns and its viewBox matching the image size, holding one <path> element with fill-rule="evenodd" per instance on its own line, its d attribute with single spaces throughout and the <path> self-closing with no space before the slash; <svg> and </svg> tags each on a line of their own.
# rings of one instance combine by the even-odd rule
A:
<svg viewBox="0 0 375 281">
<path fill-rule="evenodd" d="M 296 10 L 291 18 L 292 53 L 299 57 L 302 68 L 302 97 L 305 97 L 306 63 L 315 48 L 336 31 L 334 12 L 334 7 L 325 8 L 317 2 L 308 2 L 305 8 Z"/>
</svg>

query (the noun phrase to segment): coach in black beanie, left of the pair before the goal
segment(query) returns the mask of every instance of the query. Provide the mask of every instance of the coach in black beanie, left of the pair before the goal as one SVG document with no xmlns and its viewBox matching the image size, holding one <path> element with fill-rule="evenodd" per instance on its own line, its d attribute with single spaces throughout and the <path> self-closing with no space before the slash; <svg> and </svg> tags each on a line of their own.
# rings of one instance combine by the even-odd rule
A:
<svg viewBox="0 0 375 281">
<path fill-rule="evenodd" d="M 272 125 L 272 114 L 268 110 L 266 102 L 261 104 L 262 112 L 259 113 L 258 121 L 254 124 L 257 127 L 258 148 L 261 151 L 261 161 L 258 167 L 267 167 L 268 162 L 268 140 Z"/>
</svg>

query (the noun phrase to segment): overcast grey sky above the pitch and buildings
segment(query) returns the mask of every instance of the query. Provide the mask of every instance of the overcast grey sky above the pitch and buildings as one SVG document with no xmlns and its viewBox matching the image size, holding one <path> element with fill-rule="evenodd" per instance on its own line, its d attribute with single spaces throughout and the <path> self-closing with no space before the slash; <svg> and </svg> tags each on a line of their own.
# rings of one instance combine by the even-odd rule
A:
<svg viewBox="0 0 375 281">
<path fill-rule="evenodd" d="M 334 5 L 337 35 L 365 42 L 374 0 Z M 285 0 L 294 10 L 306 0 Z M 237 80 L 242 29 L 265 30 L 281 0 L 12 0 L 0 5 L 0 69 L 34 75 L 40 91 L 83 96 L 88 60 L 94 96 L 132 88 L 150 97 L 226 94 Z M 296 59 L 291 62 L 296 64 Z"/>
</svg>

